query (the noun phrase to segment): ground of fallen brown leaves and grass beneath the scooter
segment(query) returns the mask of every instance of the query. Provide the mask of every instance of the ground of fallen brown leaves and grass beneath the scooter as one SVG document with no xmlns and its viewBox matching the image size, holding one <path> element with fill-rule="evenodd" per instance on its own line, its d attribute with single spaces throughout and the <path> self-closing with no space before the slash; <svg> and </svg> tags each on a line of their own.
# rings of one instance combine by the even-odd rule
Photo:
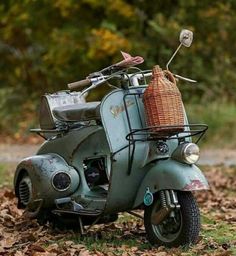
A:
<svg viewBox="0 0 236 256">
<path fill-rule="evenodd" d="M 118 221 L 94 226 L 85 236 L 40 226 L 16 207 L 11 189 L 0 189 L 0 255 L 236 255 L 236 168 L 205 167 L 211 190 L 195 193 L 201 215 L 199 242 L 190 248 L 151 247 L 141 219 L 127 213 Z"/>
</svg>

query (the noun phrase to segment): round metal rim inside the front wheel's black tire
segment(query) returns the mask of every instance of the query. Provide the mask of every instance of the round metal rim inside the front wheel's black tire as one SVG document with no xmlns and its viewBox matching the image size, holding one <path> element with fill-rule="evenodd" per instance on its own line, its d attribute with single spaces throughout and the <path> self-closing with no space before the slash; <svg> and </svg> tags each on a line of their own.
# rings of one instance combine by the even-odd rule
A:
<svg viewBox="0 0 236 256">
<path fill-rule="evenodd" d="M 157 206 L 153 211 L 159 210 Z M 171 243 L 181 233 L 182 229 L 182 214 L 180 210 L 173 210 L 160 224 L 152 224 L 152 229 L 157 238 L 163 242 Z"/>
</svg>

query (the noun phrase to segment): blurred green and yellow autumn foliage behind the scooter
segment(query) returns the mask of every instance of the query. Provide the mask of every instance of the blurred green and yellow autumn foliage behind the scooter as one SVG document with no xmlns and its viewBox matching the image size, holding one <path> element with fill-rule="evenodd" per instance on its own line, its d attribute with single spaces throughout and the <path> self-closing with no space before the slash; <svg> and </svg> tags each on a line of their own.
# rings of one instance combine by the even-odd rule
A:
<svg viewBox="0 0 236 256">
<path fill-rule="evenodd" d="M 143 56 L 141 68 L 164 67 L 182 28 L 194 42 L 171 69 L 199 82 L 181 85 L 190 116 L 232 134 L 218 129 L 235 119 L 235 24 L 234 0 L 1 0 L 1 134 L 27 135 L 40 95 L 120 60 L 120 50 Z"/>
</svg>

